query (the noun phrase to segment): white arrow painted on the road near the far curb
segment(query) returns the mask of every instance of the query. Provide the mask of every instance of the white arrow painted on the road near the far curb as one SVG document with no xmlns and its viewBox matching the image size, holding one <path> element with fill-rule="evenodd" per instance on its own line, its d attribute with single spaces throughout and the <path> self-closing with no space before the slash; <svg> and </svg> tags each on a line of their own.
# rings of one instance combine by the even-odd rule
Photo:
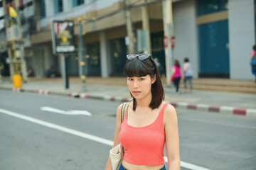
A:
<svg viewBox="0 0 256 170">
<path fill-rule="evenodd" d="M 76 110 L 70 110 L 70 111 L 63 111 L 58 108 L 50 108 L 50 107 L 41 107 L 42 111 L 48 111 L 48 112 L 54 112 L 54 113 L 59 113 L 63 115 L 87 115 L 91 116 L 92 113 L 88 111 L 76 111 Z"/>
</svg>

